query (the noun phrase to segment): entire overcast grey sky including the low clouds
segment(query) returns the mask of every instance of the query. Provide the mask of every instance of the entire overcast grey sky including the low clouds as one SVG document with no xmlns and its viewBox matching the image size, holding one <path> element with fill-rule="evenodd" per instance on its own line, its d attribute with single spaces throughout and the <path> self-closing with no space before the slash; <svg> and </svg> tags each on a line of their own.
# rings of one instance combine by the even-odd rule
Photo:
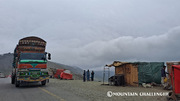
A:
<svg viewBox="0 0 180 101">
<path fill-rule="evenodd" d="M 38 36 L 52 61 L 85 69 L 179 61 L 180 0 L 0 0 L 0 36 L 0 54 Z"/>
</svg>

